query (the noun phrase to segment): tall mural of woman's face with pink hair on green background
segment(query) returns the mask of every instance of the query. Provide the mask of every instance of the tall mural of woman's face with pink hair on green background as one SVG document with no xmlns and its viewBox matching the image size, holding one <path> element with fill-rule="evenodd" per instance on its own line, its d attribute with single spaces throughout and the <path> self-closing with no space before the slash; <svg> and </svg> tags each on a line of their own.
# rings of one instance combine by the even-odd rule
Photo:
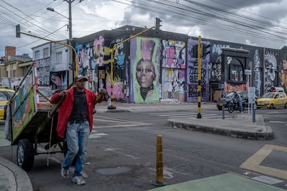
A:
<svg viewBox="0 0 287 191">
<path fill-rule="evenodd" d="M 159 102 L 159 39 L 131 39 L 132 102 Z"/>
</svg>

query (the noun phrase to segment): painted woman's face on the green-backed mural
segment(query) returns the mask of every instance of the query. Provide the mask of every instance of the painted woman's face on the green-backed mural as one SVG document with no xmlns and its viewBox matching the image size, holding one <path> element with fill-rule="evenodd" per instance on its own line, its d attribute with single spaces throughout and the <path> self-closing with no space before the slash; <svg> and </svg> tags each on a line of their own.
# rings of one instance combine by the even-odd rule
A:
<svg viewBox="0 0 287 191">
<path fill-rule="evenodd" d="M 137 82 L 143 88 L 150 87 L 155 80 L 155 66 L 150 60 L 140 60 L 137 64 Z"/>
</svg>

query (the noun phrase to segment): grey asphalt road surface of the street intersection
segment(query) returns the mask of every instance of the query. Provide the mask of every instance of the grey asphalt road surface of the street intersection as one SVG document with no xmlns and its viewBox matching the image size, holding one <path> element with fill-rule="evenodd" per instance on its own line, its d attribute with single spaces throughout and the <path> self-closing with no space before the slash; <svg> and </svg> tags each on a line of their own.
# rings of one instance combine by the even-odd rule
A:
<svg viewBox="0 0 287 191">
<path fill-rule="evenodd" d="M 96 113 L 85 173 L 85 190 L 148 190 L 155 188 L 156 140 L 162 135 L 164 152 L 164 182 L 167 185 L 215 176 L 226 172 L 249 173 L 250 177 L 267 176 L 240 166 L 256 152 L 274 145 L 275 149 L 263 158 L 261 165 L 275 170 L 287 170 L 287 153 L 277 147 L 287 147 L 285 109 L 260 109 L 266 124 L 275 133 L 273 140 L 247 140 L 198 131 L 172 129 L 166 119 L 189 116 L 195 111 Z M 228 117 L 228 113 L 227 117 Z M 220 118 L 220 111 L 202 111 L 202 118 Z M 284 128 L 285 127 L 285 128 Z M 16 161 L 16 147 L 0 147 L 1 156 Z M 35 156 L 28 171 L 35 190 L 78 190 L 71 179 L 60 176 L 62 154 Z M 49 165 L 48 165 L 49 161 Z M 16 163 L 16 162 L 15 162 Z M 286 180 L 273 185 L 286 189 Z"/>
</svg>

